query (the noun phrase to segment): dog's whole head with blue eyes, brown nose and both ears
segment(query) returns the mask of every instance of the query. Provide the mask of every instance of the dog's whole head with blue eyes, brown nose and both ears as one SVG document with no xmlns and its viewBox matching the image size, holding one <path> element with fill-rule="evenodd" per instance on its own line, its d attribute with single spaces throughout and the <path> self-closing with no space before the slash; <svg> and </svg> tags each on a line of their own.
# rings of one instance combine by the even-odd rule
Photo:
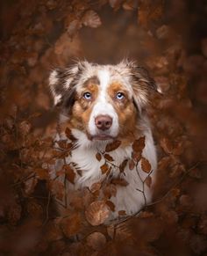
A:
<svg viewBox="0 0 207 256">
<path fill-rule="evenodd" d="M 149 91 L 156 89 L 145 69 L 127 61 L 118 65 L 78 62 L 52 71 L 49 84 L 68 126 L 92 142 L 133 140 Z"/>
</svg>

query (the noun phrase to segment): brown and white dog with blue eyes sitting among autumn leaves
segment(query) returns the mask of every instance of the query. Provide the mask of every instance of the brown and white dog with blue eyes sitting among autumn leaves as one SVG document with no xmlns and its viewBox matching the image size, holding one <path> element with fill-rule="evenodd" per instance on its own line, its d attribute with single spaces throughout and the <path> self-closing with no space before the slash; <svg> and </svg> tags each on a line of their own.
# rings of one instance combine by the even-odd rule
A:
<svg viewBox="0 0 207 256">
<path fill-rule="evenodd" d="M 75 172 L 82 170 L 81 176 L 75 176 L 75 189 L 91 187 L 104 179 L 100 169 L 104 159 L 96 159 L 97 151 L 103 152 L 108 143 L 120 141 L 118 149 L 110 152 L 113 165 L 119 166 L 132 157 L 132 143 L 142 136 L 145 136 L 142 156 L 150 162 L 154 183 L 157 159 L 145 109 L 149 93 L 156 90 L 156 85 L 146 69 L 128 61 L 117 65 L 77 62 L 67 69 L 54 69 L 49 84 L 54 105 L 61 106 L 62 132 L 56 139 L 67 139 L 66 127 L 77 139 L 75 149 L 67 157 L 67 163 L 74 164 Z M 129 168 L 128 164 L 125 172 L 111 168 L 111 178 L 121 177 L 128 183 L 125 187 L 118 186 L 116 196 L 111 197 L 115 204 L 112 218 L 123 210 L 132 215 L 151 201 L 152 187 L 143 184 L 148 174 L 140 164 L 137 168 Z M 143 186 L 145 195 L 141 193 Z"/>
</svg>

